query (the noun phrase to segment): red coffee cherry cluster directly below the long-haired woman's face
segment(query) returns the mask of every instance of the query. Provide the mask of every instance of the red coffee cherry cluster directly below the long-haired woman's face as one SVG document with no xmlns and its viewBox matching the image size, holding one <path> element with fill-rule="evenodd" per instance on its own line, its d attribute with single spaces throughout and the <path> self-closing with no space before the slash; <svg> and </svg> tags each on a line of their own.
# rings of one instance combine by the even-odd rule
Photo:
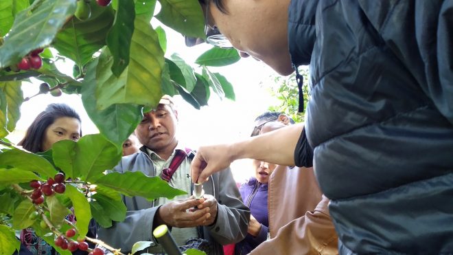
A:
<svg viewBox="0 0 453 255">
<path fill-rule="evenodd" d="M 37 205 L 44 202 L 44 196 L 54 195 L 54 192 L 64 193 L 66 190 L 65 175 L 63 173 L 57 173 L 54 179 L 47 179 L 47 182 L 41 184 L 38 180 L 30 181 L 30 187 L 34 188 L 30 197 L 33 199 L 33 203 Z"/>
</svg>

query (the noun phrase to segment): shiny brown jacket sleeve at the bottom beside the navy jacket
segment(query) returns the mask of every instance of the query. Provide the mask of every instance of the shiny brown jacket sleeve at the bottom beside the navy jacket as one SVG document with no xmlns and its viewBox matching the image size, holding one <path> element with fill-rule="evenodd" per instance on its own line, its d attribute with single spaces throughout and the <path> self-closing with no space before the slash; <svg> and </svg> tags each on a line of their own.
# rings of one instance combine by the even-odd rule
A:
<svg viewBox="0 0 453 255">
<path fill-rule="evenodd" d="M 328 204 L 329 199 L 323 196 L 314 211 L 284 225 L 275 238 L 262 243 L 251 254 L 338 254 L 338 237 Z"/>
</svg>

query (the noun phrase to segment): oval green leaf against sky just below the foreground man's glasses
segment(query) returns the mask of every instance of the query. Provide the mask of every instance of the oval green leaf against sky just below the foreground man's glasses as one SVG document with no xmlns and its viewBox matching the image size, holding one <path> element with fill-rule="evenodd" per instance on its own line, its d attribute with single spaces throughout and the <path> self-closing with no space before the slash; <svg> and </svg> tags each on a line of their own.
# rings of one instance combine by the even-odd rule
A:
<svg viewBox="0 0 453 255">
<path fill-rule="evenodd" d="M 210 67 L 223 67 L 231 65 L 241 59 L 237 53 L 237 49 L 224 49 L 220 47 L 212 47 L 207 52 L 201 54 L 195 63 L 198 65 L 207 65 Z"/>
</svg>

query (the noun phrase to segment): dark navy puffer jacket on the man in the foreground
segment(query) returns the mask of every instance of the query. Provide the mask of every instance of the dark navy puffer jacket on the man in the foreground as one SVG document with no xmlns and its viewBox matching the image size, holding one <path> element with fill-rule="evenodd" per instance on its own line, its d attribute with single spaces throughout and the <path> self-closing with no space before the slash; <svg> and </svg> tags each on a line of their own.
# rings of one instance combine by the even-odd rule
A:
<svg viewBox="0 0 453 255">
<path fill-rule="evenodd" d="M 289 12 L 340 252 L 453 253 L 453 1 L 292 0 Z"/>
</svg>

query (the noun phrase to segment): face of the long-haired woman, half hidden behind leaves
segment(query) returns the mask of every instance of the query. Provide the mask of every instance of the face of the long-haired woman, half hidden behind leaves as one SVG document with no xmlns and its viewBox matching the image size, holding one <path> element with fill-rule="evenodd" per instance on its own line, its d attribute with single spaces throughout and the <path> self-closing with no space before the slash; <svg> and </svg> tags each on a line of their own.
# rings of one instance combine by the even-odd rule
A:
<svg viewBox="0 0 453 255">
<path fill-rule="evenodd" d="M 78 141 L 80 139 L 80 121 L 76 118 L 61 117 L 47 126 L 41 149 L 49 150 L 55 142 L 61 140 Z"/>
</svg>

